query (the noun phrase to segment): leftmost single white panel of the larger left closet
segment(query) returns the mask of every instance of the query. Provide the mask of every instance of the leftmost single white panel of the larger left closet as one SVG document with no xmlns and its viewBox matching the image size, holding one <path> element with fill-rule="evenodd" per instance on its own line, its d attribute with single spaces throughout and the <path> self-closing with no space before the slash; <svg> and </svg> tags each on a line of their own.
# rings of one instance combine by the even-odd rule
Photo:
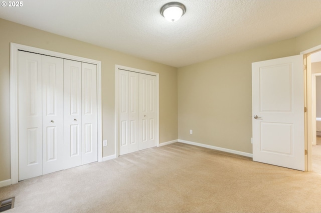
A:
<svg viewBox="0 0 321 213">
<path fill-rule="evenodd" d="M 42 55 L 18 51 L 19 180 L 42 175 Z"/>
</svg>

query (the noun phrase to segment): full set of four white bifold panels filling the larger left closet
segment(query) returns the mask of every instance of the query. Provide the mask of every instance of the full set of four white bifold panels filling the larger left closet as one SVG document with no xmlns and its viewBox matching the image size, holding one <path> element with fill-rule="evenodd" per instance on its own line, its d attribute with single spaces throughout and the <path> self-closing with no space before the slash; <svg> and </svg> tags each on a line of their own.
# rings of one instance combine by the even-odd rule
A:
<svg viewBox="0 0 321 213">
<path fill-rule="evenodd" d="M 19 180 L 97 161 L 97 66 L 18 57 Z"/>
</svg>

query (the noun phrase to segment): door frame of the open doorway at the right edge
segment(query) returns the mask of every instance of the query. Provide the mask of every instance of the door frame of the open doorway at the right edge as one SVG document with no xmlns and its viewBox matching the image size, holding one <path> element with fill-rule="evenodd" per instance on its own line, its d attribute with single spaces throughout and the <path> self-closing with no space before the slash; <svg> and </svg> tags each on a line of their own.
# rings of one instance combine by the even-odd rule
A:
<svg viewBox="0 0 321 213">
<path fill-rule="evenodd" d="M 300 54 L 303 54 L 303 64 L 304 64 L 304 96 L 305 96 L 305 104 L 306 107 L 306 118 L 305 118 L 305 149 L 307 150 L 307 154 L 305 155 L 305 170 L 312 171 L 312 140 L 313 140 L 313 106 L 312 106 L 312 72 L 311 72 L 311 60 L 310 55 L 314 52 L 320 51 L 321 45 L 314 46 L 307 50 L 301 51 Z"/>
</svg>

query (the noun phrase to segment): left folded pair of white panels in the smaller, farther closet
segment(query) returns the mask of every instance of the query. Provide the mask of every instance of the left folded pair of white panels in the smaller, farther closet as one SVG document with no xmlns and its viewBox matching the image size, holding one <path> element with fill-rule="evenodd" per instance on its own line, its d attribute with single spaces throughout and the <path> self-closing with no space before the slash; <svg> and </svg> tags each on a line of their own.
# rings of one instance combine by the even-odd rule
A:
<svg viewBox="0 0 321 213">
<path fill-rule="evenodd" d="M 139 74 L 119 73 L 119 155 L 139 150 Z"/>
</svg>

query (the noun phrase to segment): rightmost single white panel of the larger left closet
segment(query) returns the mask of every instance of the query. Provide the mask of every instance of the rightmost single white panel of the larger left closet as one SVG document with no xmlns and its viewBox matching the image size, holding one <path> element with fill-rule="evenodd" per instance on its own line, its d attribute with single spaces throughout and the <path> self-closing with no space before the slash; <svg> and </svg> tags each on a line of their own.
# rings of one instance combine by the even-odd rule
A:
<svg viewBox="0 0 321 213">
<path fill-rule="evenodd" d="M 97 65 L 82 63 L 82 164 L 97 161 Z"/>
</svg>

